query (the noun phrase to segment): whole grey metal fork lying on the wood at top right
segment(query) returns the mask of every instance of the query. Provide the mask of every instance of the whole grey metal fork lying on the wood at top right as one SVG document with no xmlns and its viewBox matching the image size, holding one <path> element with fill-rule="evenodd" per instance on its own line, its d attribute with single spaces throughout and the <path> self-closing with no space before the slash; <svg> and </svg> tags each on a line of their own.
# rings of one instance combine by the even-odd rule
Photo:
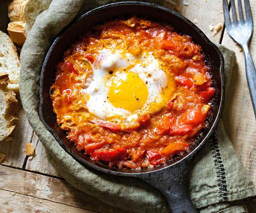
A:
<svg viewBox="0 0 256 213">
<path fill-rule="evenodd" d="M 231 22 L 229 17 L 228 0 L 223 0 L 223 10 L 227 32 L 231 38 L 240 44 L 244 52 L 246 78 L 251 94 L 254 115 L 256 117 L 256 70 L 248 46 L 253 32 L 253 20 L 249 0 L 244 0 L 244 7 L 246 20 L 244 20 L 243 17 L 241 0 L 238 0 L 238 21 L 236 16 L 235 1 L 231 0 L 231 10 L 233 16 L 233 21 Z"/>
</svg>

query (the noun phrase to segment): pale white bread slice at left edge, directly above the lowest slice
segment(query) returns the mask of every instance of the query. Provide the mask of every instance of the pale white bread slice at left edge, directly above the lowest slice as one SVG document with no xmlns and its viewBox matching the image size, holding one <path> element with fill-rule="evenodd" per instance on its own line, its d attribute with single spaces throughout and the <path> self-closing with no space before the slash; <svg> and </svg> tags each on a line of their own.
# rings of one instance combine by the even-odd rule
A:
<svg viewBox="0 0 256 213">
<path fill-rule="evenodd" d="M 20 60 L 17 49 L 7 34 L 0 31 L 0 74 L 8 74 L 8 88 L 19 92 Z"/>
</svg>

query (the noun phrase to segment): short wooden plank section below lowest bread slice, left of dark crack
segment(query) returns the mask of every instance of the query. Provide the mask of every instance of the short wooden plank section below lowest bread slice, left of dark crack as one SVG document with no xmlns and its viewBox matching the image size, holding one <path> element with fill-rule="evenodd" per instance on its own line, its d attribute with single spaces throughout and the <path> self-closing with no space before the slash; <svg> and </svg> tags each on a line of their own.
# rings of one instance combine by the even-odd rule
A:
<svg viewBox="0 0 256 213">
<path fill-rule="evenodd" d="M 31 141 L 33 129 L 28 122 L 21 104 L 19 104 L 18 117 L 18 124 L 10 135 L 13 140 L 0 142 L 0 153 L 5 154 L 3 165 L 22 168 L 26 158 L 24 146 Z"/>
</svg>

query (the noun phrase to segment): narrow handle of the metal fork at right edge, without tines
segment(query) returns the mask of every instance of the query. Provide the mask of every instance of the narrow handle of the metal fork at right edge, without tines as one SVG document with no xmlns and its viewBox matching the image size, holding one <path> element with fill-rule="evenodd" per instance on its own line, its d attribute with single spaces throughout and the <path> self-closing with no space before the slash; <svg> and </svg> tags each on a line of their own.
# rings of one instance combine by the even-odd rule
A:
<svg viewBox="0 0 256 213">
<path fill-rule="evenodd" d="M 245 57 L 247 84 L 251 94 L 254 115 L 256 118 L 256 69 L 252 60 L 252 56 L 249 51 L 248 44 L 243 45 L 243 51 L 244 51 L 244 57 Z"/>
</svg>

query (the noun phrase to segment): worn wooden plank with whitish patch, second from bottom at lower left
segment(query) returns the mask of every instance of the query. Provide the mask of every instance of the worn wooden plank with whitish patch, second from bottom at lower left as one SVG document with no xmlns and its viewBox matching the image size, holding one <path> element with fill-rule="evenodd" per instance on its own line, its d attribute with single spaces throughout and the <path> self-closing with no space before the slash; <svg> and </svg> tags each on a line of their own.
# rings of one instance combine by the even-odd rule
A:
<svg viewBox="0 0 256 213">
<path fill-rule="evenodd" d="M 101 213 L 129 213 L 128 211 L 124 211 L 119 208 L 109 206 L 101 202 L 100 200 L 96 199 L 95 197 L 75 189 L 74 187 L 69 185 L 65 180 L 1 165 L 0 189 L 19 193 L 26 196 L 32 196 L 38 199 L 44 199 L 44 204 L 48 202 L 55 202 L 59 203 L 59 205 L 66 204 L 68 206 L 89 209 Z M 15 201 L 16 196 L 12 198 Z M 9 201 L 11 202 L 11 200 Z M 10 207 L 11 205 L 12 204 L 8 204 L 8 207 Z M 31 207 L 30 210 L 36 210 L 36 207 L 37 205 Z"/>
</svg>

